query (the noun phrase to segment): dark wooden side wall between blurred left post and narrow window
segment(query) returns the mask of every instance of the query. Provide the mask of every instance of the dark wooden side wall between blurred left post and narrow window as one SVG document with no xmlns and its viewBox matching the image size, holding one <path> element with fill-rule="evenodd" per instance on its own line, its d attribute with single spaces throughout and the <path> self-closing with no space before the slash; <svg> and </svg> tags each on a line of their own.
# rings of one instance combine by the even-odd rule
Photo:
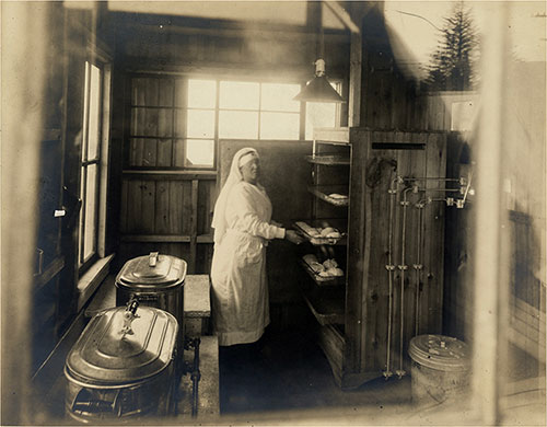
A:
<svg viewBox="0 0 547 427">
<path fill-rule="evenodd" d="M 48 20 L 40 223 L 36 242 L 44 255 L 42 273 L 35 275 L 33 298 L 33 373 L 77 314 L 84 67 L 98 51 L 113 55 L 104 5 L 68 9 L 61 3 L 51 3 Z M 63 210 L 65 216 L 55 217 L 55 210 Z M 112 241 L 108 244 L 113 246 Z"/>
</svg>

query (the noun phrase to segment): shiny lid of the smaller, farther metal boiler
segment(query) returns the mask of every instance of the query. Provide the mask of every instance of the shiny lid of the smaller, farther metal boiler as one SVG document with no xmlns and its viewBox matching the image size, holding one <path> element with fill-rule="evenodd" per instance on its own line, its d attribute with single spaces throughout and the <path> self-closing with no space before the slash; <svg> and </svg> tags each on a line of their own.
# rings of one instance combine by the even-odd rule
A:
<svg viewBox="0 0 547 427">
<path fill-rule="evenodd" d="M 116 284 L 130 288 L 171 288 L 181 285 L 185 277 L 185 261 L 151 252 L 148 256 L 129 259 L 116 277 Z"/>
</svg>

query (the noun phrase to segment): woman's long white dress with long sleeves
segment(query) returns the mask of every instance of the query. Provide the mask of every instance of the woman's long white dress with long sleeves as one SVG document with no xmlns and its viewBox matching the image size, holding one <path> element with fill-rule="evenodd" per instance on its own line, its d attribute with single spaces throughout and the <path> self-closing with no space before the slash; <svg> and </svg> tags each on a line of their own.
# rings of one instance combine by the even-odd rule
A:
<svg viewBox="0 0 547 427">
<path fill-rule="evenodd" d="M 233 160 L 235 164 L 238 162 L 236 157 L 237 153 Z M 229 182 L 230 177 L 226 185 Z M 225 186 L 222 192 L 224 189 Z M 217 216 L 219 207 L 224 208 L 224 221 L 217 218 L 213 227 L 220 224 L 224 232 L 220 235 L 219 229 L 214 230 L 211 266 L 213 330 L 221 346 L 254 343 L 270 321 L 265 246 L 267 240 L 283 239 L 284 229 L 269 223 L 271 203 L 265 189 L 241 177 L 231 185 L 225 200 L 219 196 Z"/>
</svg>

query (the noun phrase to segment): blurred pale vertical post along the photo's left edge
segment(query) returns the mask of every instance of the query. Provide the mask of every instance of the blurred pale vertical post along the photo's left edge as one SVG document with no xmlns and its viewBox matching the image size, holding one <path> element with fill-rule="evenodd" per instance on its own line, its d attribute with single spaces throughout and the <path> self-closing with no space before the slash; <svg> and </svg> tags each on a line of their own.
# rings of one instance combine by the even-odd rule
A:
<svg viewBox="0 0 547 427">
<path fill-rule="evenodd" d="M 49 12 L 47 2 L 2 3 L 2 425 L 35 424 L 39 413 L 28 407 Z"/>
</svg>

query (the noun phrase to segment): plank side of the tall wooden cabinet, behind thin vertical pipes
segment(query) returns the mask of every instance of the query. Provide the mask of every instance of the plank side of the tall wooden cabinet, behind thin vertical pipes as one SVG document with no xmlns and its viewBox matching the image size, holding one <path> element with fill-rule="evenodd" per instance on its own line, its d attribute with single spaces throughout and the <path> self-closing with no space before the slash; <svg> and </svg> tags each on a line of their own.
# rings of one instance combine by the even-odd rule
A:
<svg viewBox="0 0 547 427">
<path fill-rule="evenodd" d="M 409 339 L 440 333 L 445 134 L 351 129 L 347 373 L 408 372 Z M 359 382 L 359 378 L 354 381 Z"/>
</svg>

